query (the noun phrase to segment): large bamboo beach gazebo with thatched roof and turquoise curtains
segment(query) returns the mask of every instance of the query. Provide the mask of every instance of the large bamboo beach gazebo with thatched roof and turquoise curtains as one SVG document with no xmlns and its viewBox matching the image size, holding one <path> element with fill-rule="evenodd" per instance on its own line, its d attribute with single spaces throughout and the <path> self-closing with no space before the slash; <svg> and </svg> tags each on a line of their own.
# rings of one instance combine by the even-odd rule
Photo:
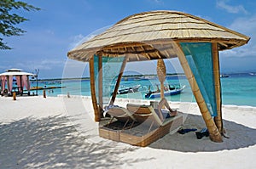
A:
<svg viewBox="0 0 256 169">
<path fill-rule="evenodd" d="M 99 70 L 93 69 L 95 56 L 101 60 L 102 57 L 125 55 L 125 63 L 177 57 L 189 80 L 210 138 L 221 142 L 223 125 L 218 51 L 240 47 L 249 39 L 241 33 L 191 14 L 168 10 L 149 11 L 120 20 L 108 30 L 73 48 L 67 56 L 90 62 L 90 89 L 96 116 L 101 116 L 98 114 L 101 113 L 99 107 L 102 106 L 102 98 L 98 97 L 97 102 L 94 75 Z M 209 63 L 212 69 L 204 68 Z M 99 82 L 102 82 L 101 78 Z M 100 87 L 99 91 L 102 92 Z M 100 119 L 96 118 L 96 121 Z"/>
</svg>

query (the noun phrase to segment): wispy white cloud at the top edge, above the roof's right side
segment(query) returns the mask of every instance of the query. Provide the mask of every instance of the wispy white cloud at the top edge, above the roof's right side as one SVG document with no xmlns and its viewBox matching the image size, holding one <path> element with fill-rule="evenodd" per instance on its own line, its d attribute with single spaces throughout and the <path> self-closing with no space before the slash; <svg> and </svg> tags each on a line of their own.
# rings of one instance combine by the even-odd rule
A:
<svg viewBox="0 0 256 169">
<path fill-rule="evenodd" d="M 229 0 L 219 0 L 217 1 L 218 8 L 224 8 L 227 12 L 232 14 L 243 13 L 247 14 L 247 10 L 242 5 L 232 6 L 227 4 Z"/>
</svg>

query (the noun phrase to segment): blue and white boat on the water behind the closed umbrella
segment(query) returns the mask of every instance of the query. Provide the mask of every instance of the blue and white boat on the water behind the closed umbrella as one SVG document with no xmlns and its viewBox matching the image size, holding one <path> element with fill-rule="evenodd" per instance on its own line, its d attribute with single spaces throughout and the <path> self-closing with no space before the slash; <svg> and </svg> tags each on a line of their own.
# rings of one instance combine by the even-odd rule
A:
<svg viewBox="0 0 256 169">
<path fill-rule="evenodd" d="M 180 94 L 184 87 L 186 87 L 185 85 L 183 87 L 181 87 L 180 85 L 168 85 L 168 87 L 165 87 L 165 96 L 171 96 L 171 95 L 175 95 L 175 94 Z M 149 92 L 145 94 L 145 98 L 149 98 L 149 99 L 154 99 L 154 98 L 160 98 L 160 89 L 157 85 L 157 90 L 156 91 L 151 91 L 149 89 Z"/>
</svg>

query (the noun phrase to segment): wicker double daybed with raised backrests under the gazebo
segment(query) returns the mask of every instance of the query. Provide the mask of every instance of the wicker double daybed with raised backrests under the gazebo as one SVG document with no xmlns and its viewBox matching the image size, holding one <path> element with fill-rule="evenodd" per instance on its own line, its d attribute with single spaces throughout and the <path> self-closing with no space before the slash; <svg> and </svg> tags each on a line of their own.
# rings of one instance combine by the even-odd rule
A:
<svg viewBox="0 0 256 169">
<path fill-rule="evenodd" d="M 127 104 L 127 109 L 114 108 L 109 111 L 113 118 L 108 121 L 108 124 L 100 123 L 102 125 L 99 127 L 100 137 L 145 147 L 183 124 L 181 113 L 166 117 L 166 112 L 163 112 L 165 119 L 161 121 L 158 109 L 153 109 L 151 105 L 143 105 L 143 109 L 140 106 L 135 112 L 134 108 L 135 105 Z"/>
</svg>

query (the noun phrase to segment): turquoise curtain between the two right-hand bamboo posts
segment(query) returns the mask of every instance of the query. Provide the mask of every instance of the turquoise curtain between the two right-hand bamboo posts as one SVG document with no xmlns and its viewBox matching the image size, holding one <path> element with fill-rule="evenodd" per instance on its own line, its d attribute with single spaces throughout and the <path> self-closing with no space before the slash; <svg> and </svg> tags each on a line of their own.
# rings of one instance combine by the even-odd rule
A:
<svg viewBox="0 0 256 169">
<path fill-rule="evenodd" d="M 205 99 L 207 108 L 212 116 L 217 115 L 215 82 L 212 63 L 212 43 L 210 42 L 181 42 L 183 54 L 188 60 L 195 81 Z"/>
</svg>

